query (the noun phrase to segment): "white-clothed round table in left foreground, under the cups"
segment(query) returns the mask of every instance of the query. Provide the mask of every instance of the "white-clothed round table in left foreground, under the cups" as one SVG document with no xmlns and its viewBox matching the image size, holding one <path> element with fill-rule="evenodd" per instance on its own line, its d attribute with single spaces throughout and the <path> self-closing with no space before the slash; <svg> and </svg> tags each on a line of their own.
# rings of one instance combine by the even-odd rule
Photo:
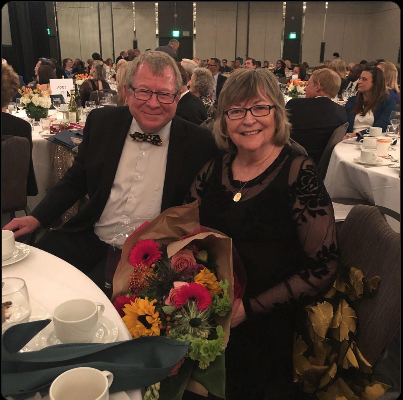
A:
<svg viewBox="0 0 403 400">
<path fill-rule="evenodd" d="M 105 305 L 104 315 L 112 319 L 118 328 L 116 341 L 131 340 L 131 335 L 118 312 L 104 292 L 91 279 L 66 261 L 35 247 L 28 247 L 30 252 L 25 259 L 2 266 L 3 278 L 23 278 L 27 285 L 29 298 L 49 314 L 52 314 L 60 303 L 73 298 L 88 298 L 98 301 Z M 130 400 L 142 400 L 139 389 L 126 393 Z M 110 400 L 114 400 L 114 398 L 117 400 L 118 395 L 118 393 L 110 394 Z"/>
</svg>

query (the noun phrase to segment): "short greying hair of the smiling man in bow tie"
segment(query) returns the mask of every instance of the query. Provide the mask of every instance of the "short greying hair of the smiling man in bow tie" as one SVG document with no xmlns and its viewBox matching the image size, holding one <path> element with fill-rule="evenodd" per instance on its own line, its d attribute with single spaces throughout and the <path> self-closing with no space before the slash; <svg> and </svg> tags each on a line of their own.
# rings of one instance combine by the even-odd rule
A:
<svg viewBox="0 0 403 400">
<path fill-rule="evenodd" d="M 165 77 L 165 69 L 168 67 L 172 68 L 175 74 L 175 89 L 177 94 L 180 93 L 182 89 L 182 77 L 176 62 L 171 56 L 168 56 L 168 54 L 164 52 L 156 52 L 155 50 L 149 50 L 148 52 L 140 54 L 133 61 L 129 61 L 125 78 L 125 85 L 127 88 L 129 88 L 133 82 L 137 67 L 144 64 L 147 64 L 150 67 L 153 75 L 156 77 Z"/>
</svg>

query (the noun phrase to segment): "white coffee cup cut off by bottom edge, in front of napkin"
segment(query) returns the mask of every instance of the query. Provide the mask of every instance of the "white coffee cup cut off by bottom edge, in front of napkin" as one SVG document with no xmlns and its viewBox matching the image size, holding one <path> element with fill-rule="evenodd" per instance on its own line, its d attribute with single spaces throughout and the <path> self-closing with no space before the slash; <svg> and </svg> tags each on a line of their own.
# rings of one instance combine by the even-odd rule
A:
<svg viewBox="0 0 403 400">
<path fill-rule="evenodd" d="M 69 369 L 60 374 L 49 390 L 50 400 L 108 400 L 113 374 L 90 367 Z"/>
</svg>

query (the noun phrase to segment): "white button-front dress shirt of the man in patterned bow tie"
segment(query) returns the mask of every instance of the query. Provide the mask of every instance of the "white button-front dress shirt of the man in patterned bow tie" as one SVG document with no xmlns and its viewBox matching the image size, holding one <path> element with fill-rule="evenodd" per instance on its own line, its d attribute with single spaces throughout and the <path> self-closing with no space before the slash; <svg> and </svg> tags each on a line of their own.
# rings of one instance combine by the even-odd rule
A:
<svg viewBox="0 0 403 400">
<path fill-rule="evenodd" d="M 94 232 L 103 242 L 111 244 L 115 238 L 113 245 L 122 247 L 126 237 L 116 236 L 127 233 L 125 225 L 160 214 L 171 123 L 156 133 L 164 143 L 156 146 L 129 136 L 136 131 L 145 133 L 133 118 L 108 201 L 94 224 Z M 129 225 L 133 226 L 133 223 Z"/>
</svg>

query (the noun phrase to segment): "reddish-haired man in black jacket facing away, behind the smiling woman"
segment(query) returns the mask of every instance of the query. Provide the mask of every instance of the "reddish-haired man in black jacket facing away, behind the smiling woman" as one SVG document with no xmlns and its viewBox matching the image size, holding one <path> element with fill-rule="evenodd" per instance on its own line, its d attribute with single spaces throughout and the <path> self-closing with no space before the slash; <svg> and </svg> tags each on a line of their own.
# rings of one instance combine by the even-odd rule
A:
<svg viewBox="0 0 403 400">
<path fill-rule="evenodd" d="M 286 108 L 292 124 L 291 139 L 305 147 L 316 164 L 333 131 L 348 121 L 345 109 L 332 102 L 341 79 L 334 71 L 315 71 L 305 87 L 306 98 L 291 99 Z"/>
</svg>

